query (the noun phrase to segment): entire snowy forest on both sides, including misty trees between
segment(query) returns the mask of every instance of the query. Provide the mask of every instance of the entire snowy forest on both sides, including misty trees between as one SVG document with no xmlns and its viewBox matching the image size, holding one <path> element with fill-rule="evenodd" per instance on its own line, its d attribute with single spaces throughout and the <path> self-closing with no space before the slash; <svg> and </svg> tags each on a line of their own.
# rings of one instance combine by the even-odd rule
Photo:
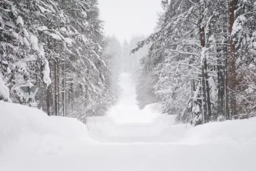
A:
<svg viewBox="0 0 256 171">
<path fill-rule="evenodd" d="M 161 0 L 154 32 L 120 43 L 97 0 L 0 0 L 0 100 L 37 85 L 48 115 L 103 116 L 134 75 L 138 106 L 194 126 L 256 116 L 256 2 Z M 153 11 L 152 11 L 153 12 Z"/>
</svg>

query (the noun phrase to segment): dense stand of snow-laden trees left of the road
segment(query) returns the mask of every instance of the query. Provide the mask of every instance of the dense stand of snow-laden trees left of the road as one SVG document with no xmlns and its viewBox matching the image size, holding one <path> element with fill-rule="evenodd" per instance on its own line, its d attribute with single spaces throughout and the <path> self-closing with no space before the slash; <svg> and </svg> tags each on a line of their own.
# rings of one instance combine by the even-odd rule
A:
<svg viewBox="0 0 256 171">
<path fill-rule="evenodd" d="M 49 115 L 104 114 L 114 101 L 106 46 L 97 0 L 0 1 L 0 89 L 15 103 L 32 83 Z"/>
</svg>

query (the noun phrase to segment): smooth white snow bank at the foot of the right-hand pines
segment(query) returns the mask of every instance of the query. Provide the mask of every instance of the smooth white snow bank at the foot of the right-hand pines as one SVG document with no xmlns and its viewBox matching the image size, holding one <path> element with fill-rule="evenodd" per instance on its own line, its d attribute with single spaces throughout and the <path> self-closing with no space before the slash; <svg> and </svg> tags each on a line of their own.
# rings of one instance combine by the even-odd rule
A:
<svg viewBox="0 0 256 171">
<path fill-rule="evenodd" d="M 183 143 L 189 144 L 256 144 L 256 118 L 212 122 L 188 128 Z"/>
</svg>

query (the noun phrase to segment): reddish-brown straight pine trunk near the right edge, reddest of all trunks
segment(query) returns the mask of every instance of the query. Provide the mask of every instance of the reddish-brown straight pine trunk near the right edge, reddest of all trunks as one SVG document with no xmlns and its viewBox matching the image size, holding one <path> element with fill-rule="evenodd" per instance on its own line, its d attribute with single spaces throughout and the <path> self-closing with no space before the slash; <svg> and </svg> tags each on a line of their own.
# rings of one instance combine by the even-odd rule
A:
<svg viewBox="0 0 256 171">
<path fill-rule="evenodd" d="M 229 1 L 229 32 L 232 33 L 233 23 L 234 23 L 234 11 L 236 6 L 236 0 L 230 0 Z M 233 43 L 232 36 L 230 37 L 230 56 L 229 56 L 229 94 L 230 94 L 230 119 L 233 115 L 237 114 L 236 109 L 236 98 L 235 98 L 235 92 L 236 92 L 236 67 L 235 67 L 235 45 Z"/>
</svg>

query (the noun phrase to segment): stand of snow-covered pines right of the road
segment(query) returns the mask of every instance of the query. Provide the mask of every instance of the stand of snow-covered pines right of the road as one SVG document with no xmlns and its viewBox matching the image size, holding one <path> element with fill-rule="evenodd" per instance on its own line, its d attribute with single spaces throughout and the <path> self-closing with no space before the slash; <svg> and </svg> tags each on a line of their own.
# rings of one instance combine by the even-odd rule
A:
<svg viewBox="0 0 256 171">
<path fill-rule="evenodd" d="M 255 115 L 256 3 L 162 0 L 155 33 L 140 41 L 165 111 L 193 125 Z M 247 73 L 247 74 L 245 74 Z M 249 74 L 250 73 L 250 74 Z"/>
</svg>

